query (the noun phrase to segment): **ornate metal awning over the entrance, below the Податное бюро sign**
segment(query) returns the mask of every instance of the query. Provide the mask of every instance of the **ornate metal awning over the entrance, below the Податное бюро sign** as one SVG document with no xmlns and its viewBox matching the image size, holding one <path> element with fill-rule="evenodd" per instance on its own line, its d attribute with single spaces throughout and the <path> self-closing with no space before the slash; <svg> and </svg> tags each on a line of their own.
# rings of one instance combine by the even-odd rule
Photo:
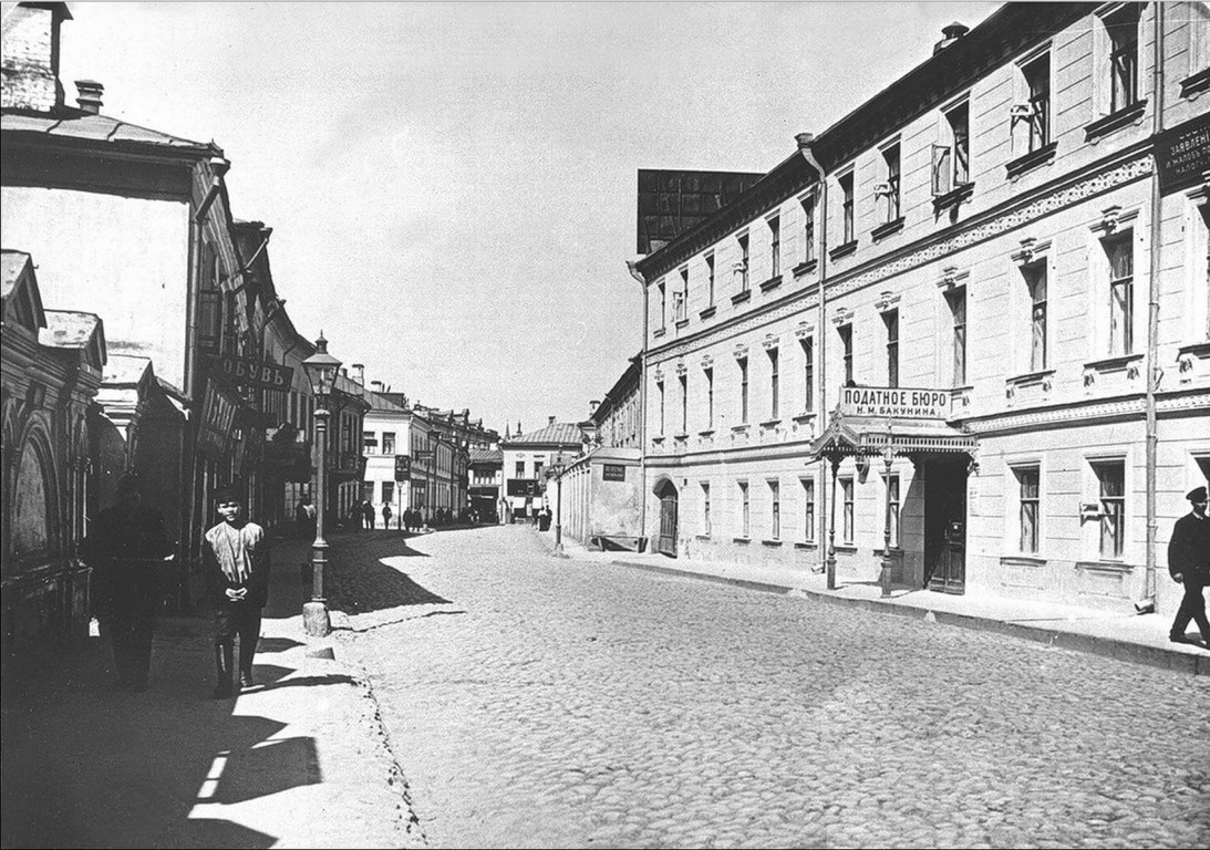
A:
<svg viewBox="0 0 1210 850">
<path fill-rule="evenodd" d="M 970 455 L 979 450 L 974 435 L 944 420 L 886 418 L 831 415 L 828 428 L 811 444 L 814 458 L 892 455 Z"/>
</svg>

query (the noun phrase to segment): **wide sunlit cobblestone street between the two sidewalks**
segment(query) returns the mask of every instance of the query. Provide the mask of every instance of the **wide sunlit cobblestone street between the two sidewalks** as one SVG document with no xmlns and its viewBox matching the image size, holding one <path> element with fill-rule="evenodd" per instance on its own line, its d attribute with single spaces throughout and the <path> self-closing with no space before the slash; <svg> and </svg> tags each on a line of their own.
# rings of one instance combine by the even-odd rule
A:
<svg viewBox="0 0 1210 850">
<path fill-rule="evenodd" d="M 1204 677 L 557 560 L 522 527 L 334 557 L 434 846 L 1210 845 Z"/>
</svg>

